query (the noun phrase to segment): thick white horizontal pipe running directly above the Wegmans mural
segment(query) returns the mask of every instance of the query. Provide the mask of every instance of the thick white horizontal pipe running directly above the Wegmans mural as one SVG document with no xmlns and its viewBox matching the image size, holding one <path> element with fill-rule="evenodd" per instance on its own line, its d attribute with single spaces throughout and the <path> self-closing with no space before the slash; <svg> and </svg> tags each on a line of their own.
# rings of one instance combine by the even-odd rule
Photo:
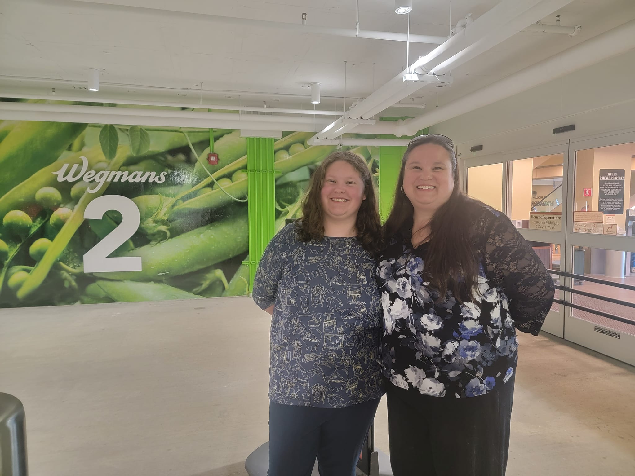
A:
<svg viewBox="0 0 635 476">
<path fill-rule="evenodd" d="M 164 109 L 128 109 L 124 107 L 83 106 L 68 104 L 43 104 L 25 102 L 0 102 L 2 110 L 25 110 L 31 112 L 70 112 L 75 114 L 103 114 L 105 116 L 163 116 L 163 117 L 192 117 L 199 119 L 218 119 L 220 121 L 246 121 L 252 122 L 286 122 L 293 121 L 298 124 L 318 124 L 323 127 L 324 120 L 317 122 L 312 117 L 285 117 L 264 116 L 260 114 L 232 114 L 222 112 L 203 112 L 190 110 L 164 110 Z"/>
</svg>

